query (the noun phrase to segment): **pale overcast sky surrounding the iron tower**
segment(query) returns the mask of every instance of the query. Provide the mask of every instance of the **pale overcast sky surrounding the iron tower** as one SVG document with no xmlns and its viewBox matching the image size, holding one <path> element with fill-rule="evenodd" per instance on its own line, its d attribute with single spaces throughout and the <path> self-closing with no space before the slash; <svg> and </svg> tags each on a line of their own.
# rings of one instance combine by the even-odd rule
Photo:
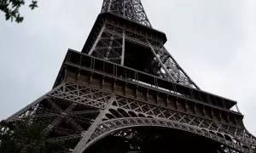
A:
<svg viewBox="0 0 256 153">
<path fill-rule="evenodd" d="M 166 48 L 201 89 L 235 99 L 256 134 L 256 1 L 142 0 Z M 0 13 L 0 120 L 53 86 L 67 48 L 81 50 L 102 0 L 42 0 L 17 25 Z"/>
</svg>

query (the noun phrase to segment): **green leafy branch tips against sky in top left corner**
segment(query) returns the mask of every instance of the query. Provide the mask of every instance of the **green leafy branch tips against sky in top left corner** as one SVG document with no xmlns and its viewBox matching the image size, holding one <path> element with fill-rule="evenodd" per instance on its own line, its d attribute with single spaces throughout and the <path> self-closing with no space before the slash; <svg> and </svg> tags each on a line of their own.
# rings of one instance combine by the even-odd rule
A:
<svg viewBox="0 0 256 153">
<path fill-rule="evenodd" d="M 5 14 L 5 20 L 20 23 L 24 17 L 20 15 L 20 7 L 25 5 L 25 0 L 0 0 L 0 10 Z M 38 8 L 38 1 L 32 0 L 28 5 L 31 9 Z"/>
</svg>

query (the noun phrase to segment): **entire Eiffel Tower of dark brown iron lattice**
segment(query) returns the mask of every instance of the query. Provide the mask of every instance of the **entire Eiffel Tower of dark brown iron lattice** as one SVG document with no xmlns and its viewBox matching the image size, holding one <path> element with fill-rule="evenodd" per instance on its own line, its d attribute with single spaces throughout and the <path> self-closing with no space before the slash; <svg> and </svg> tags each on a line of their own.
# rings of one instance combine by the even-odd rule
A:
<svg viewBox="0 0 256 153">
<path fill-rule="evenodd" d="M 236 101 L 201 90 L 165 42 L 140 0 L 104 0 L 52 90 L 6 122 L 44 121 L 44 136 L 74 153 L 253 152 Z"/>
</svg>

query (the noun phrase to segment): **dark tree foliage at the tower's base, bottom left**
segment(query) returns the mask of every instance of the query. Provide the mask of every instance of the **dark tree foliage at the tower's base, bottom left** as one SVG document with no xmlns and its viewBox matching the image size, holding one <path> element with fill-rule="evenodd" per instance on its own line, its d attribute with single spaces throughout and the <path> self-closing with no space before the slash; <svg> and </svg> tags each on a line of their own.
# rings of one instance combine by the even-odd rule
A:
<svg viewBox="0 0 256 153">
<path fill-rule="evenodd" d="M 11 130 L 6 122 L 0 122 L 1 153 L 51 153 L 65 150 L 65 143 L 50 141 L 41 132 L 42 123 L 21 123 Z"/>
</svg>

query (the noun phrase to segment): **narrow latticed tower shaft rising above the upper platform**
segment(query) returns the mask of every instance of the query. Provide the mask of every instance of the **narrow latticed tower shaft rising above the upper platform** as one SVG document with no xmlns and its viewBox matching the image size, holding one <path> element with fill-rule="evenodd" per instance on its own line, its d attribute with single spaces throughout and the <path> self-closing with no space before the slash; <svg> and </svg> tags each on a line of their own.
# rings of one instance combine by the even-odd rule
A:
<svg viewBox="0 0 256 153">
<path fill-rule="evenodd" d="M 105 12 L 117 14 L 144 26 L 151 27 L 140 0 L 104 0 L 102 13 Z"/>
</svg>

